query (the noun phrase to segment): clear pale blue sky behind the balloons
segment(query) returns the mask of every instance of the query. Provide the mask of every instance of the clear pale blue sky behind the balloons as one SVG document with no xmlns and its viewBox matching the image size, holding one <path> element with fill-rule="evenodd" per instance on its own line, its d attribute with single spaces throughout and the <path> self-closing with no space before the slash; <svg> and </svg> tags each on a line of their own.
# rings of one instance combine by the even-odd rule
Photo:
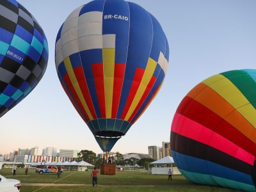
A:
<svg viewBox="0 0 256 192">
<path fill-rule="evenodd" d="M 54 63 L 55 38 L 63 21 L 89 1 L 20 0 L 45 31 L 49 61 L 44 77 L 20 104 L 0 119 L 0 154 L 44 147 L 101 150 L 63 91 Z M 113 151 L 148 153 L 170 140 L 172 118 L 182 98 L 214 74 L 256 68 L 255 0 L 133 0 L 161 23 L 170 45 L 168 74 L 150 107 Z"/>
</svg>

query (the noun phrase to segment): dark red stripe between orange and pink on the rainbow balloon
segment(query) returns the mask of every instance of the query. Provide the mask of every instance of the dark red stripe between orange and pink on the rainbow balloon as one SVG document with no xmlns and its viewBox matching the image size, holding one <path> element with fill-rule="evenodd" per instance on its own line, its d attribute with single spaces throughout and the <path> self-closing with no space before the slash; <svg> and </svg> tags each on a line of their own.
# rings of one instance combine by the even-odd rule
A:
<svg viewBox="0 0 256 192">
<path fill-rule="evenodd" d="M 200 102 L 190 97 L 184 97 L 176 112 L 217 132 L 224 138 L 232 141 L 232 143 L 253 154 L 253 156 L 256 155 L 256 143 L 253 143 L 253 141 L 244 136 L 235 127 L 228 124 L 223 118 L 200 104 Z"/>
</svg>

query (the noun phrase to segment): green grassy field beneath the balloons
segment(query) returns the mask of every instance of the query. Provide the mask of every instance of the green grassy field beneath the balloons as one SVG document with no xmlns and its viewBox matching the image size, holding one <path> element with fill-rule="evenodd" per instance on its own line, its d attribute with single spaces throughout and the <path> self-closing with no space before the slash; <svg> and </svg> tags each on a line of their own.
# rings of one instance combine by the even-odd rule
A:
<svg viewBox="0 0 256 192">
<path fill-rule="evenodd" d="M 0 175 L 6 178 L 18 179 L 21 184 L 24 183 L 55 183 L 55 184 L 92 184 L 90 172 L 63 172 L 61 180 L 58 179 L 56 173 L 44 173 L 40 175 L 35 170 L 29 170 L 26 176 L 22 168 L 17 170 L 17 175 L 12 176 L 12 169 L 3 168 Z M 168 180 L 168 175 L 152 175 L 147 172 L 117 172 L 116 175 L 100 175 L 98 176 L 99 186 L 58 186 L 46 187 L 42 186 L 22 186 L 22 192 L 35 191 L 232 191 L 231 189 L 196 185 L 184 178 L 182 175 L 174 175 L 173 180 Z M 122 186 L 125 185 L 125 186 Z M 140 186 L 141 185 L 141 186 Z"/>
</svg>

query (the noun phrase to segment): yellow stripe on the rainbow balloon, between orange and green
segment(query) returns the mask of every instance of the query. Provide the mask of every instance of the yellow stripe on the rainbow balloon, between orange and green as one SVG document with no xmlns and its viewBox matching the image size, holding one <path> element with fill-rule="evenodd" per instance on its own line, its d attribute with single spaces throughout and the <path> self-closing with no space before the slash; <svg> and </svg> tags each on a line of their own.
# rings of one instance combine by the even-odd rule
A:
<svg viewBox="0 0 256 192">
<path fill-rule="evenodd" d="M 212 80 L 210 78 L 208 81 L 202 81 L 202 83 L 207 84 L 207 86 L 211 87 L 212 90 L 221 95 L 221 97 L 227 100 L 230 105 L 241 113 L 241 115 L 243 115 L 250 124 L 256 127 L 256 110 L 246 97 L 244 97 L 243 93 L 241 93 L 231 81 L 220 74 L 214 76 L 214 79 Z"/>
</svg>

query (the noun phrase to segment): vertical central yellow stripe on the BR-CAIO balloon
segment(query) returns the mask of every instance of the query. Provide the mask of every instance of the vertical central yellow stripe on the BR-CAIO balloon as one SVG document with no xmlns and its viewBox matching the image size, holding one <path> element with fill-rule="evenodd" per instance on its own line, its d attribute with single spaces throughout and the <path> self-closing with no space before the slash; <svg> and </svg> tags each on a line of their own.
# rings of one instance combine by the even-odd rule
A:
<svg viewBox="0 0 256 192">
<path fill-rule="evenodd" d="M 115 49 L 103 49 L 106 118 L 111 118 L 115 75 Z"/>
</svg>

